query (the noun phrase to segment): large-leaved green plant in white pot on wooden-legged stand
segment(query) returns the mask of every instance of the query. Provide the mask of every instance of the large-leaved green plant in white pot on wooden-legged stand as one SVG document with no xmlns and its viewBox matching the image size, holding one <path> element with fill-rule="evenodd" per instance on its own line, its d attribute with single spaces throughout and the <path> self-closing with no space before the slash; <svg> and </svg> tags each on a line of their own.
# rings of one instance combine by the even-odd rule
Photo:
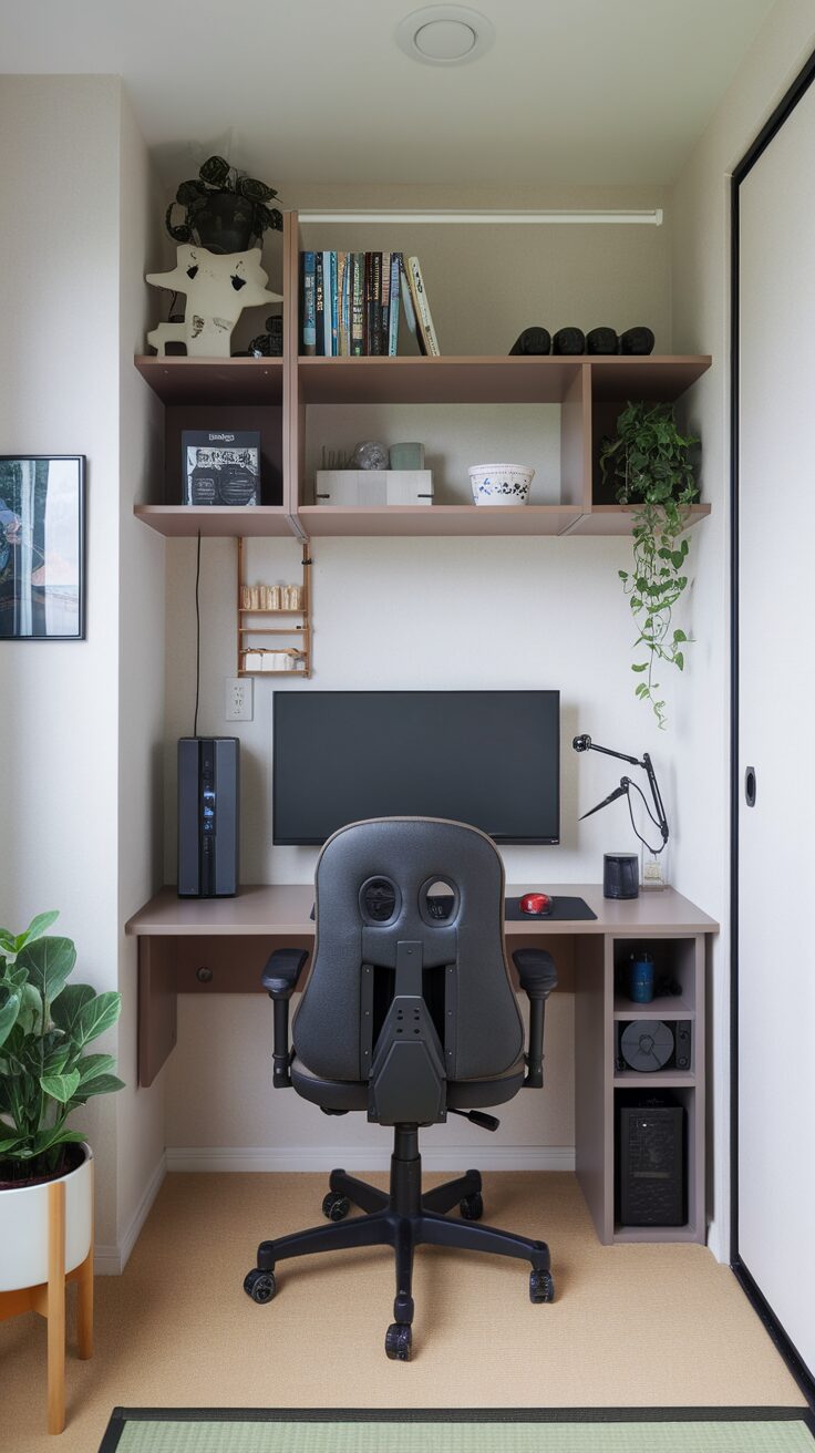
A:
<svg viewBox="0 0 815 1453">
<path fill-rule="evenodd" d="M 57 917 L 39 914 L 17 936 L 0 928 L 0 1321 L 48 1316 L 49 1433 L 65 1417 L 65 1279 L 80 1282 L 80 1357 L 92 1343 L 93 1159 L 67 1122 L 122 1088 L 113 1056 L 86 1052 L 116 1023 L 121 995 L 67 982 L 77 950 L 48 936 Z"/>
</svg>

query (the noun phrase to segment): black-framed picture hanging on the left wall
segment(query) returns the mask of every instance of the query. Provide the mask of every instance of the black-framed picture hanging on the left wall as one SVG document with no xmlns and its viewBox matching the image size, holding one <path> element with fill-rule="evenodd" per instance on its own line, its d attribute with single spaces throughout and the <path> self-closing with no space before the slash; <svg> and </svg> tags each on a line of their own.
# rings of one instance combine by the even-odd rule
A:
<svg viewBox="0 0 815 1453">
<path fill-rule="evenodd" d="M 0 455 L 0 641 L 84 641 L 84 455 Z"/>
</svg>

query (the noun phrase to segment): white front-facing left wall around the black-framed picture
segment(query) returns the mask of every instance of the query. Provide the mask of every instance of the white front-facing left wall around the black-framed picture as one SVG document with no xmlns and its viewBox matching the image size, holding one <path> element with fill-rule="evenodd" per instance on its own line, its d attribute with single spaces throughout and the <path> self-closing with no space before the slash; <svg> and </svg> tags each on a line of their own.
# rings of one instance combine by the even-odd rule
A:
<svg viewBox="0 0 815 1453">
<path fill-rule="evenodd" d="M 0 78 L 0 452 L 87 456 L 87 639 L 0 645 L 0 918 L 45 908 L 118 987 L 119 83 Z M 115 1048 L 115 1035 L 109 1036 Z M 116 1235 L 115 1098 L 81 1122 Z"/>
</svg>

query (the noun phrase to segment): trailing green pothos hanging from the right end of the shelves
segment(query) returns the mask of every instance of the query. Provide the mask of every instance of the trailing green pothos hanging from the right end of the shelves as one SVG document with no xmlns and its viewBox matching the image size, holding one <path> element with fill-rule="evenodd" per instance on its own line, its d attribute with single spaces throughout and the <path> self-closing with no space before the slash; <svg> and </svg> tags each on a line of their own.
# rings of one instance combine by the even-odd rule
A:
<svg viewBox="0 0 815 1453">
<path fill-rule="evenodd" d="M 699 439 L 680 434 L 673 404 L 628 404 L 615 439 L 600 446 L 603 478 L 620 504 L 633 511 L 633 568 L 620 570 L 636 622 L 635 652 L 645 652 L 632 671 L 642 677 L 636 696 L 649 702 L 657 724 L 667 724 L 655 670 L 660 661 L 684 670 L 689 636 L 673 625 L 674 607 L 687 588 L 689 543 L 683 539 L 689 506 L 699 498 L 690 450 Z"/>
</svg>

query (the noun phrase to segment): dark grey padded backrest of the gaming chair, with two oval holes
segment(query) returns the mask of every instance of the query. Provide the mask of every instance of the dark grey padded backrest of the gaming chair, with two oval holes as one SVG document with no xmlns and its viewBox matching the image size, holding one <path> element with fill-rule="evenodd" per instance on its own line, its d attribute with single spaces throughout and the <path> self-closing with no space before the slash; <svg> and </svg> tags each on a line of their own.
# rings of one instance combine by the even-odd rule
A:
<svg viewBox="0 0 815 1453">
<path fill-rule="evenodd" d="M 312 1074 L 370 1081 L 385 1029 L 398 1048 L 426 1045 L 449 1081 L 517 1061 L 504 867 L 485 833 L 439 818 L 352 822 L 325 843 L 315 888 L 314 962 L 293 1020 Z"/>
</svg>

